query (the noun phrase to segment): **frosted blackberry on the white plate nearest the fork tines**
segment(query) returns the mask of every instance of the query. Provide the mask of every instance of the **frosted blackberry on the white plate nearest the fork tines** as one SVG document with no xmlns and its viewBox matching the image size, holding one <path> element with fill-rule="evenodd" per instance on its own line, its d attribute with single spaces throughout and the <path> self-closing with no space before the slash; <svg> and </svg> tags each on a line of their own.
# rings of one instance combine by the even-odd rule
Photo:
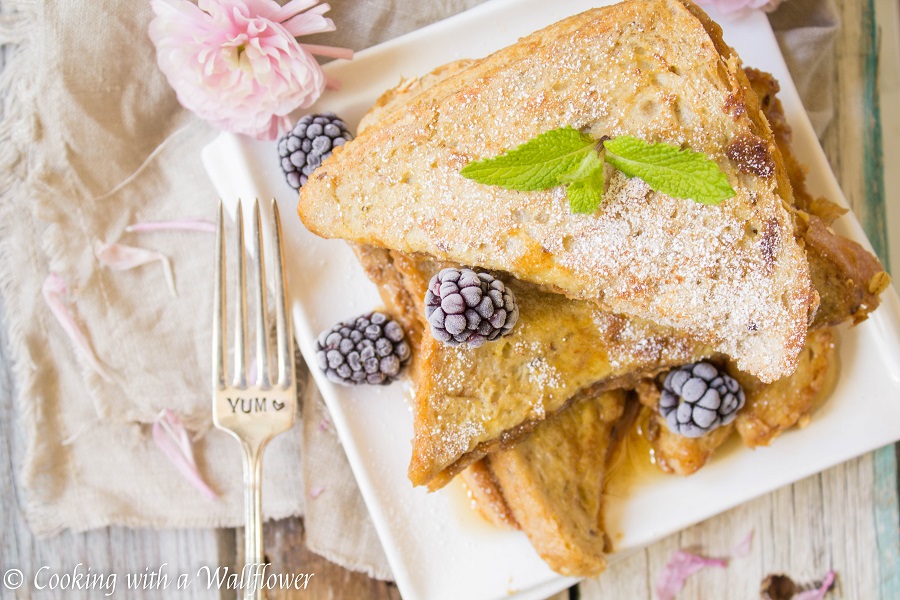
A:
<svg viewBox="0 0 900 600">
<path fill-rule="evenodd" d="M 316 360 L 330 381 L 387 385 L 409 361 L 399 323 L 382 312 L 337 323 L 316 340 Z"/>
</svg>

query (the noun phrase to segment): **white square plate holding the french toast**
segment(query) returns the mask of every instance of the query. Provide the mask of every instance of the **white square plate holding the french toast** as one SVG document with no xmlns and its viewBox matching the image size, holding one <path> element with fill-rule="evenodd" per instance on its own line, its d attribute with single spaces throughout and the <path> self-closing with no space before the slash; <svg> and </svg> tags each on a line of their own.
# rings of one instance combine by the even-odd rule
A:
<svg viewBox="0 0 900 600">
<path fill-rule="evenodd" d="M 327 71 L 343 87 L 326 92 L 308 112 L 334 111 L 353 128 L 401 76 L 485 56 L 568 15 L 609 3 L 493 0 L 361 52 L 351 62 L 329 64 Z M 766 17 L 753 13 L 719 21 L 726 42 L 745 63 L 769 71 L 781 83 L 794 148 L 810 166 L 811 191 L 844 203 Z M 284 183 L 274 142 L 223 134 L 203 158 L 226 203 L 238 197 L 277 198 L 297 341 L 307 363 L 315 365 L 318 332 L 378 308 L 375 286 L 344 242 L 320 239 L 296 218 L 296 194 Z M 837 229 L 868 246 L 852 215 Z M 782 435 L 770 448 L 730 452 L 689 478 L 652 478 L 626 498 L 611 498 L 607 525 L 620 552 L 900 439 L 898 307 L 890 288 L 868 321 L 842 332 L 839 383 L 806 429 Z M 406 478 L 412 414 L 404 385 L 344 388 L 329 383 L 315 367 L 313 373 L 404 598 L 543 598 L 573 583 L 553 573 L 524 534 L 493 528 L 472 513 L 458 483 L 434 494 L 413 489 Z"/>
</svg>

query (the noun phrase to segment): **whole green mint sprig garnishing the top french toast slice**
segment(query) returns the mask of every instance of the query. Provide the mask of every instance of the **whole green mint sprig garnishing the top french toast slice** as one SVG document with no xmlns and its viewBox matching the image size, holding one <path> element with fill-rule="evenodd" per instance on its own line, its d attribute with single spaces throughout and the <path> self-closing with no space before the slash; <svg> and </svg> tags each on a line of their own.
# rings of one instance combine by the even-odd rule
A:
<svg viewBox="0 0 900 600">
<path fill-rule="evenodd" d="M 675 198 L 716 205 L 735 195 L 725 173 L 702 152 L 628 135 L 597 142 L 572 127 L 546 131 L 505 154 L 470 162 L 460 174 L 509 190 L 564 185 L 572 212 L 590 214 L 603 201 L 604 162 Z"/>
</svg>

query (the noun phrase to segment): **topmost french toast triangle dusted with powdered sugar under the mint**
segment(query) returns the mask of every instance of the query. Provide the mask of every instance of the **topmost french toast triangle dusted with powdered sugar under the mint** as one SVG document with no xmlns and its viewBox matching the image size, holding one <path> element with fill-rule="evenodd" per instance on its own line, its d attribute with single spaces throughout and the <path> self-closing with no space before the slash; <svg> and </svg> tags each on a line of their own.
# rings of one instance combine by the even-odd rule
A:
<svg viewBox="0 0 900 600">
<path fill-rule="evenodd" d="M 737 195 L 705 206 L 615 174 L 601 208 L 577 215 L 560 188 L 516 192 L 459 174 L 563 126 L 704 152 Z M 673 328 L 772 381 L 793 371 L 818 302 L 791 201 L 718 26 L 687 1 L 631 0 L 536 32 L 416 95 L 326 160 L 298 211 L 322 236 L 506 271 Z"/>
</svg>

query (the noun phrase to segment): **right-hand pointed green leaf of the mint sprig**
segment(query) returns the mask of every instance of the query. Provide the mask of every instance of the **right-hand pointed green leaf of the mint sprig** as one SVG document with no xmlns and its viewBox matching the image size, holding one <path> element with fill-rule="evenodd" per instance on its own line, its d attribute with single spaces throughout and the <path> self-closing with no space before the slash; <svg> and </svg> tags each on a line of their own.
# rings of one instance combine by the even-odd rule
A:
<svg viewBox="0 0 900 600">
<path fill-rule="evenodd" d="M 640 177 L 657 192 L 711 205 L 735 195 L 719 165 L 702 152 L 630 135 L 607 140 L 603 146 L 610 164 L 629 177 Z"/>
</svg>

